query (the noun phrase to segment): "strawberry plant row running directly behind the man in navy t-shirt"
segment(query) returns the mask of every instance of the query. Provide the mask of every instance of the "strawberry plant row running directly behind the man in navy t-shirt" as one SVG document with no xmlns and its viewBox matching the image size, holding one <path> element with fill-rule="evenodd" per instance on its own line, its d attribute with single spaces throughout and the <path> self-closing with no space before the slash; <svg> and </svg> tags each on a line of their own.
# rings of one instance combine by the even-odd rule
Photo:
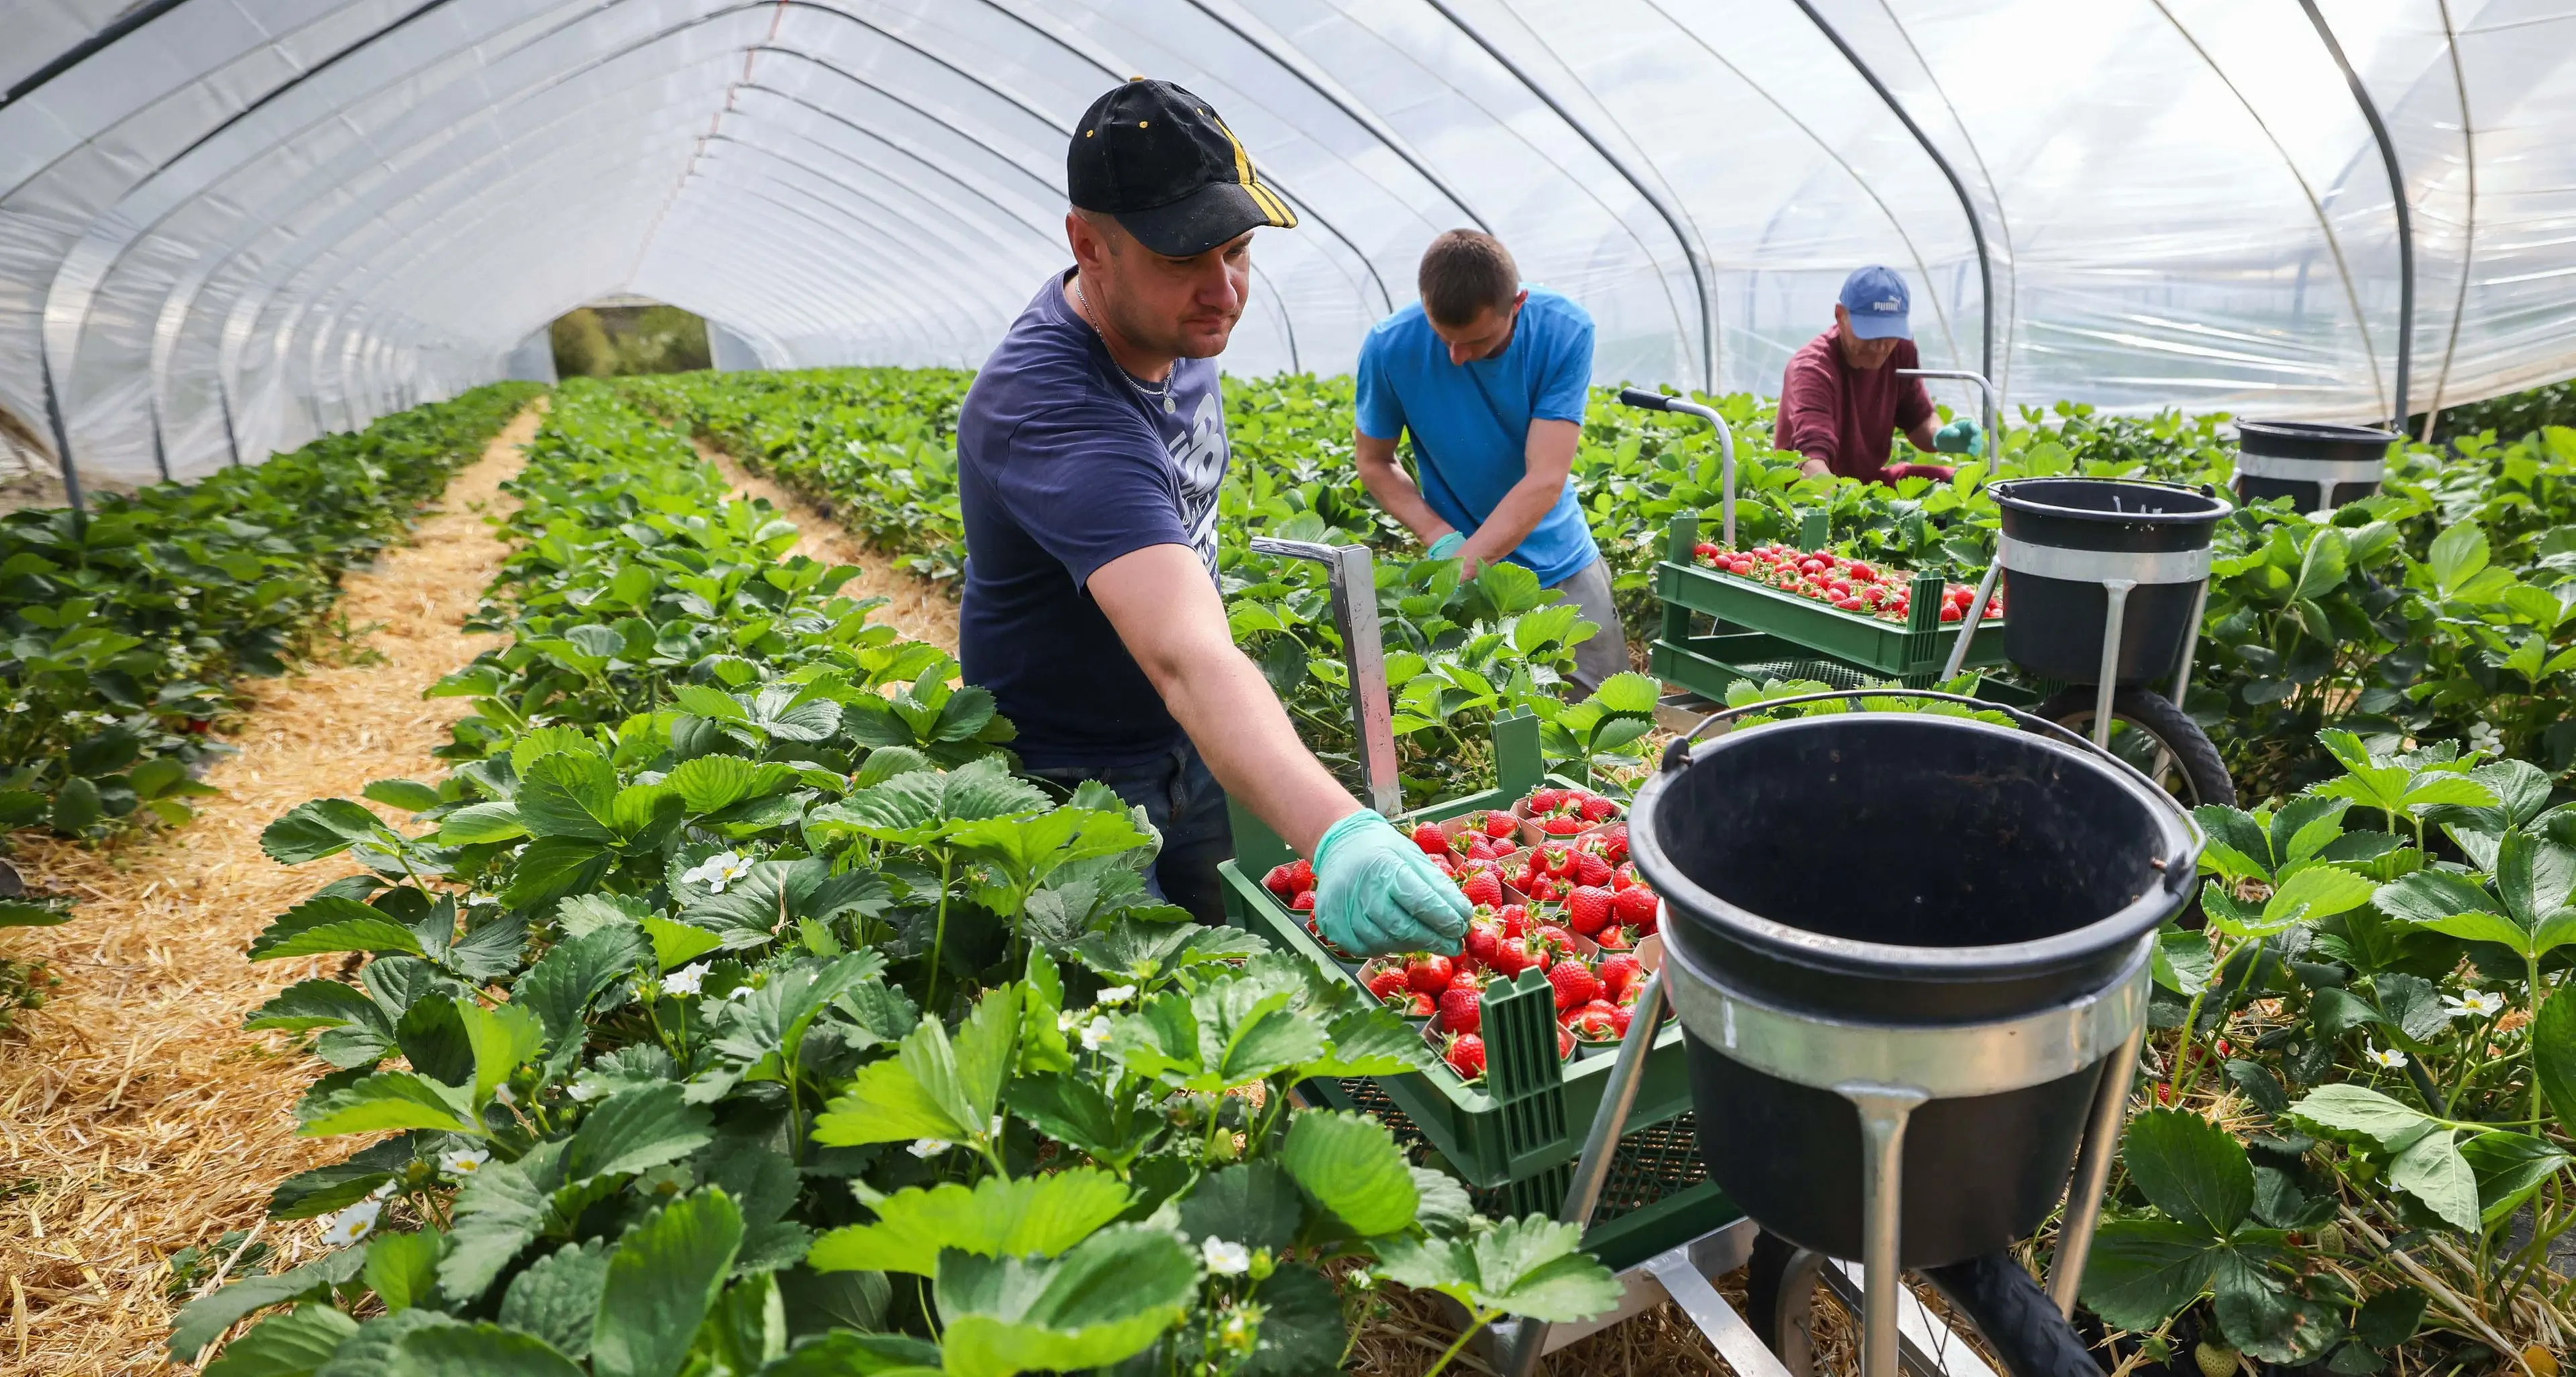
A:
<svg viewBox="0 0 2576 1377">
<path fill-rule="evenodd" d="M 907 569 L 951 579 L 963 566 L 956 510 L 956 409 L 969 373 L 827 368 L 814 373 L 688 373 L 621 389 L 768 468 Z M 1327 574 L 1262 556 L 1252 535 L 1363 541 L 1378 566 L 1394 734 L 1406 798 L 1476 788 L 1486 731 L 1502 713 L 1548 718 L 1548 749 L 1577 767 L 1633 764 L 1654 685 L 1633 677 L 1556 726 L 1574 646 L 1589 636 L 1571 605 L 1525 569 L 1461 579 L 1419 553 L 1360 492 L 1350 468 L 1350 378 L 1229 381 L 1234 468 L 1221 494 L 1221 582 L 1234 633 L 1298 721 L 1306 744 L 1358 782 L 1358 741 Z"/>
</svg>

